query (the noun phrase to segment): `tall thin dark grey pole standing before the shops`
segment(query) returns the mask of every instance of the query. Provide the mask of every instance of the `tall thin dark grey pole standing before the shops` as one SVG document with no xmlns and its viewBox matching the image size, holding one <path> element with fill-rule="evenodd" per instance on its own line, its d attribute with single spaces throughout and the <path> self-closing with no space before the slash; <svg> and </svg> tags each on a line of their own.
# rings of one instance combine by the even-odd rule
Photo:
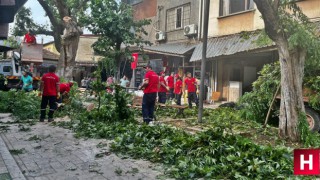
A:
<svg viewBox="0 0 320 180">
<path fill-rule="evenodd" d="M 204 6 L 203 7 L 204 7 L 204 16 L 203 16 L 204 17 L 204 21 L 203 21 L 201 79 L 200 79 L 200 95 L 199 95 L 199 111 L 198 111 L 198 122 L 199 123 L 202 123 L 202 114 L 203 114 L 204 78 L 205 78 L 205 74 L 206 74 L 210 0 L 204 0 Z"/>
</svg>

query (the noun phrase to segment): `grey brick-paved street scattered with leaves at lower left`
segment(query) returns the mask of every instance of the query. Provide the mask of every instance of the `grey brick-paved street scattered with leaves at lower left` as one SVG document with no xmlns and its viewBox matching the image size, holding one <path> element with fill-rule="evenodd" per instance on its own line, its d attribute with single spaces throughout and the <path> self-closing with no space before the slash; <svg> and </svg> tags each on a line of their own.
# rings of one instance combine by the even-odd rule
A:
<svg viewBox="0 0 320 180">
<path fill-rule="evenodd" d="M 30 180 L 156 179 L 163 174 L 150 162 L 110 153 L 107 140 L 76 139 L 70 130 L 47 122 L 28 131 L 27 125 L 4 124 L 12 121 L 10 114 L 0 114 L 0 121 L 9 126 L 0 138 L 0 180 L 10 179 L 8 174 Z"/>
</svg>

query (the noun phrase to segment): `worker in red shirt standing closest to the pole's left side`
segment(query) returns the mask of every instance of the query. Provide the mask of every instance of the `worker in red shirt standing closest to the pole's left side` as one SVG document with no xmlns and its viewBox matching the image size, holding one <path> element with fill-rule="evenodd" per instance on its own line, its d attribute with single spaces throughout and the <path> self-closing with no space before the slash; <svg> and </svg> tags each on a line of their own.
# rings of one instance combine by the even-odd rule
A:
<svg viewBox="0 0 320 180">
<path fill-rule="evenodd" d="M 196 103 L 198 106 L 198 97 L 197 97 L 197 80 L 191 76 L 191 73 L 187 73 L 187 77 L 184 80 L 185 85 L 188 88 L 188 103 L 189 108 L 192 108 L 192 102 Z"/>
</svg>

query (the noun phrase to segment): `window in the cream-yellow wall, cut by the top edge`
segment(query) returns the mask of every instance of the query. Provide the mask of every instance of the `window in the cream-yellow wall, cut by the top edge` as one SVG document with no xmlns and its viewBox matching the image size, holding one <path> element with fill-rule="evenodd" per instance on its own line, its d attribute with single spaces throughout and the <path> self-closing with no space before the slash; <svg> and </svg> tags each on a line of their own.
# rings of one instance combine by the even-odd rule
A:
<svg viewBox="0 0 320 180">
<path fill-rule="evenodd" d="M 253 9 L 253 0 L 220 0 L 220 16 Z"/>
</svg>

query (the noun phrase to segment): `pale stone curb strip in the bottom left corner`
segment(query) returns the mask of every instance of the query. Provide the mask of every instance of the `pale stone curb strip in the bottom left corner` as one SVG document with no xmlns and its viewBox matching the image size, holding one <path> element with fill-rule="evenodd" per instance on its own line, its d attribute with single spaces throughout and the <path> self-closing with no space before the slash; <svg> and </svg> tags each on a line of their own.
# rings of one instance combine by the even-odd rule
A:
<svg viewBox="0 0 320 180">
<path fill-rule="evenodd" d="M 9 152 L 7 145 L 5 144 L 4 134 L 0 134 L 0 155 L 4 161 L 5 166 L 13 180 L 25 180 L 23 173 L 21 172 L 19 166 L 17 165 L 16 161 L 14 160 L 13 156 Z"/>
</svg>

